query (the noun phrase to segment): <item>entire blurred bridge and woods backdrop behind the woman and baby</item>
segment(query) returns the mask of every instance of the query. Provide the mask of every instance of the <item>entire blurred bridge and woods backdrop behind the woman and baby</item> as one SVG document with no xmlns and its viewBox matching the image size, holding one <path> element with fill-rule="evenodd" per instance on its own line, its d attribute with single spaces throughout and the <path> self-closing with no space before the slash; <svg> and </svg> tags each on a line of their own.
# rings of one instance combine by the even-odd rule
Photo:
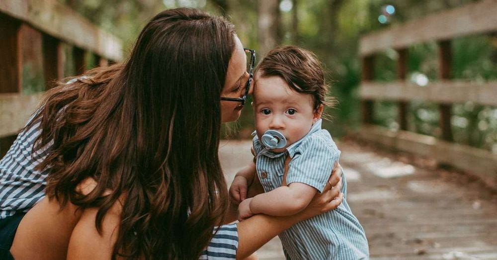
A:
<svg viewBox="0 0 497 260">
<path fill-rule="evenodd" d="M 125 60 L 180 6 L 226 16 L 259 61 L 316 53 L 372 259 L 497 259 L 497 0 L 0 0 L 0 158 L 53 80 Z M 250 105 L 222 127 L 228 182 L 253 129 Z M 277 238 L 258 253 L 284 259 Z"/>
</svg>

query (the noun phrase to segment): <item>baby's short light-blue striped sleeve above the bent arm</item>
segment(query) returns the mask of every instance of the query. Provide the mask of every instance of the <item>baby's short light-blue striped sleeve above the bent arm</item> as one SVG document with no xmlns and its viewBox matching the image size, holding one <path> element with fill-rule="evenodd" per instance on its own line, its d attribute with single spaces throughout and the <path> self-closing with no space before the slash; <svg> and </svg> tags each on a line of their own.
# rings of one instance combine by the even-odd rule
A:
<svg viewBox="0 0 497 260">
<path fill-rule="evenodd" d="M 323 192 L 333 164 L 340 156 L 340 151 L 331 143 L 331 139 L 321 136 L 309 138 L 303 143 L 299 154 L 295 154 L 290 161 L 287 183 L 302 182 Z"/>
</svg>

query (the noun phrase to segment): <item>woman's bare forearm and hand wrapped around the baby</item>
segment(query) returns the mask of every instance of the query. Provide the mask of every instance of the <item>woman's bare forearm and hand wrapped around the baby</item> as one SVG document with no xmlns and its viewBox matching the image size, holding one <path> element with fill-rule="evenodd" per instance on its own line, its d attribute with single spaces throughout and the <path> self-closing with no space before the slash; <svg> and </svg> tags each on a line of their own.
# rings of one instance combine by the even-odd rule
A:
<svg viewBox="0 0 497 260">
<path fill-rule="evenodd" d="M 340 193 L 341 174 L 340 167 L 335 164 L 333 174 L 329 179 L 331 184 L 327 184 L 323 193 L 314 196 L 311 203 L 303 211 L 295 215 L 275 217 L 258 214 L 238 223 L 239 245 L 237 259 L 247 258 L 269 240 L 295 223 L 338 207 L 343 199 L 343 193 Z M 333 188 L 331 189 L 332 186 Z"/>
</svg>

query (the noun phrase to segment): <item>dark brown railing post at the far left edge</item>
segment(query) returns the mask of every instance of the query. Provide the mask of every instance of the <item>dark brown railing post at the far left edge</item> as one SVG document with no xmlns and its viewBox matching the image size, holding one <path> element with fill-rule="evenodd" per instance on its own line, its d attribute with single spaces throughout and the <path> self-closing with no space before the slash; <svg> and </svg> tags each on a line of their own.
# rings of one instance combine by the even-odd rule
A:
<svg viewBox="0 0 497 260">
<path fill-rule="evenodd" d="M 2 38 L 0 45 L 0 93 L 20 92 L 22 88 L 21 22 L 3 14 L 0 14 L 0 20 Z M 8 120 L 5 122 L 9 123 Z M 15 135 L 0 136 L 0 158 L 7 153 L 15 137 Z"/>
</svg>

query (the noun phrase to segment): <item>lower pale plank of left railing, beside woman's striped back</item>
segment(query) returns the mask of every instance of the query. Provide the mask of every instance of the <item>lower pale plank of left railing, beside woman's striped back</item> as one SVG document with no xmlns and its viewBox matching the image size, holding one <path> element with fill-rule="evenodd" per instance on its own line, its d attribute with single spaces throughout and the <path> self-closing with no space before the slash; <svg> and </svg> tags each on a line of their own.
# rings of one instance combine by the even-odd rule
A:
<svg viewBox="0 0 497 260">
<path fill-rule="evenodd" d="M 0 94 L 0 137 L 17 134 L 38 107 L 42 95 L 43 93 L 33 95 Z"/>
</svg>

